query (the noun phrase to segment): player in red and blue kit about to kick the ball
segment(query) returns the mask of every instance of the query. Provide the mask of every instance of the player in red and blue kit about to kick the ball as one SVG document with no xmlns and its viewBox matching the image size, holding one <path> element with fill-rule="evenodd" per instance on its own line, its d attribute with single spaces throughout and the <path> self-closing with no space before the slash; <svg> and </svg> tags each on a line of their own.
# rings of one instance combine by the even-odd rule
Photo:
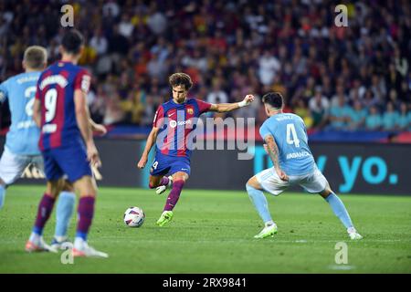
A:
<svg viewBox="0 0 411 292">
<path fill-rule="evenodd" d="M 188 90 L 193 82 L 185 73 L 174 73 L 169 78 L 173 89 L 173 99 L 159 106 L 153 121 L 153 130 L 150 132 L 138 162 L 142 169 L 147 163 L 150 150 L 155 143 L 155 159 L 150 170 L 149 187 L 156 188 L 156 193 L 163 193 L 172 188 L 163 208 L 163 214 L 157 221 L 159 226 L 170 222 L 174 213 L 173 209 L 184 183 L 190 175 L 189 134 L 195 130 L 197 118 L 204 112 L 227 112 L 248 106 L 254 100 L 248 95 L 241 102 L 211 104 L 200 99 L 187 99 Z M 167 176 L 169 175 L 169 176 Z"/>
</svg>

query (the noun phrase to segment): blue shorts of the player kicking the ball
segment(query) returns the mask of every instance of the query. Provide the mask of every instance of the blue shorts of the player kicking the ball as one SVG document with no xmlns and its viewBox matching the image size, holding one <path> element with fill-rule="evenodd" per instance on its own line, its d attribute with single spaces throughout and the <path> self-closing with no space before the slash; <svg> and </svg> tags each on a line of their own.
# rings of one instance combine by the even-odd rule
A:
<svg viewBox="0 0 411 292">
<path fill-rule="evenodd" d="M 185 172 L 190 175 L 190 159 L 188 157 L 174 157 L 157 153 L 155 155 L 150 174 L 160 176 L 173 175 L 175 172 Z"/>
</svg>

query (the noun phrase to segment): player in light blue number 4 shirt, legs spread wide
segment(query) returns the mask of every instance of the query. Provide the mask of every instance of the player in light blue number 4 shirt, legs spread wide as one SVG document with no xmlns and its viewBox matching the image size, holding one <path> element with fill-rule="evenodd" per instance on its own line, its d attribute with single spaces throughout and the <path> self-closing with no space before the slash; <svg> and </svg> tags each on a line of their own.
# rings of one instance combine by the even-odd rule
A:
<svg viewBox="0 0 411 292">
<path fill-rule="evenodd" d="M 302 119 L 295 114 L 282 112 L 284 101 L 278 92 L 267 93 L 262 101 L 269 119 L 262 124 L 259 133 L 266 142 L 264 147 L 274 166 L 258 172 L 246 185 L 248 196 L 265 224 L 263 230 L 254 237 L 265 238 L 277 234 L 277 224 L 271 219 L 269 205 L 262 191 L 279 195 L 289 186 L 298 184 L 309 193 L 321 194 L 347 229 L 350 238 L 362 239 L 344 204 L 332 192 L 317 168 Z"/>
</svg>

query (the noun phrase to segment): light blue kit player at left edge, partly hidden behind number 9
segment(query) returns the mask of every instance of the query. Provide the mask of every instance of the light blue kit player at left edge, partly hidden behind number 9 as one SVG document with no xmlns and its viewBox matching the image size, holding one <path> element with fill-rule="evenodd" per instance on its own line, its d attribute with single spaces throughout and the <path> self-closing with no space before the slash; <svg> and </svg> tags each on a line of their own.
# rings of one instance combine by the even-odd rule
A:
<svg viewBox="0 0 411 292">
<path fill-rule="evenodd" d="M 34 164 L 40 171 L 44 170 L 43 158 L 38 149 L 40 130 L 33 120 L 33 103 L 37 80 L 46 66 L 46 49 L 39 46 L 27 47 L 23 58 L 25 73 L 8 78 L 0 84 L 0 102 L 8 99 L 12 116 L 0 160 L 0 209 L 5 203 L 6 187 L 15 183 L 29 164 Z M 93 126 L 103 132 L 100 125 Z M 72 186 L 66 185 L 58 199 L 56 231 L 51 244 L 54 249 L 67 241 L 68 224 L 75 200 Z"/>
</svg>

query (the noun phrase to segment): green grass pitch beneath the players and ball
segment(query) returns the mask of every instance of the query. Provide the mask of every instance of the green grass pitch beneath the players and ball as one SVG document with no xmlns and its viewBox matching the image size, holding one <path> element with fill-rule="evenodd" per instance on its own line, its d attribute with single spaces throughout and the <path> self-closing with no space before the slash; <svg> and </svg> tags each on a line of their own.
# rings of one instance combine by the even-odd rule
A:
<svg viewBox="0 0 411 292">
<path fill-rule="evenodd" d="M 319 195 L 268 196 L 279 233 L 253 238 L 262 227 L 245 192 L 184 190 L 173 221 L 158 227 L 165 195 L 151 190 L 100 188 L 90 245 L 108 259 L 26 254 L 42 186 L 11 186 L 0 211 L 0 273 L 411 273 L 411 197 L 342 195 L 364 235 L 350 242 L 340 221 Z M 139 206 L 140 228 L 122 214 Z M 45 229 L 50 241 L 55 214 Z M 71 222 L 69 235 L 75 232 Z M 348 245 L 348 264 L 337 265 L 338 242 Z"/>
</svg>

